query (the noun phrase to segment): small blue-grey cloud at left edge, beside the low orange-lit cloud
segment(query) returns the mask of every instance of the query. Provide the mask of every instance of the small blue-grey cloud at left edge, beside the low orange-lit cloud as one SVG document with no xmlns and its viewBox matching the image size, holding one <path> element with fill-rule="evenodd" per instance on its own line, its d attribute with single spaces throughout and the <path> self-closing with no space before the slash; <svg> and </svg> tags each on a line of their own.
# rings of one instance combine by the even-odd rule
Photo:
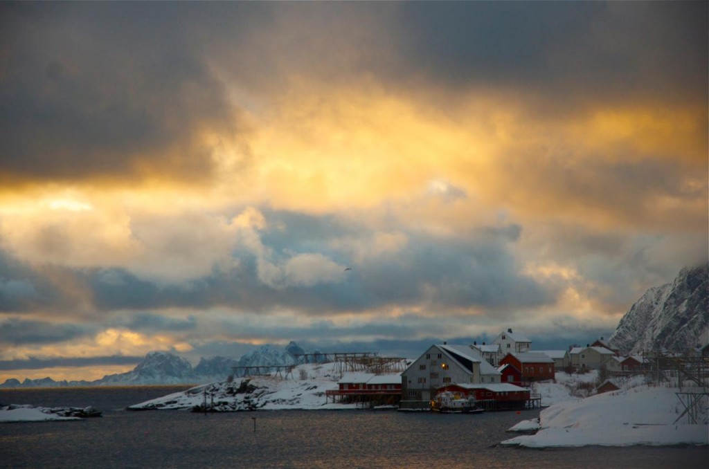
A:
<svg viewBox="0 0 709 469">
<path fill-rule="evenodd" d="M 11 345 L 55 344 L 94 332 L 84 324 L 55 324 L 52 322 L 9 319 L 0 322 L 0 343 Z"/>
</svg>

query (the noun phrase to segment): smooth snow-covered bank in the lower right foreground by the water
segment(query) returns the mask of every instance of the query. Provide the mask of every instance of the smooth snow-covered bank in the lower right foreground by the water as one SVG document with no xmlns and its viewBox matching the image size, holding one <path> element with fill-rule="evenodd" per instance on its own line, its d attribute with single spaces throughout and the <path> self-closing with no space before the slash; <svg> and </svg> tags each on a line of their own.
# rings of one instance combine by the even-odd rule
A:
<svg viewBox="0 0 709 469">
<path fill-rule="evenodd" d="M 537 434 L 517 436 L 502 444 L 531 448 L 709 444 L 706 423 L 687 424 L 686 417 L 685 423 L 673 423 L 684 409 L 677 391 L 642 385 L 559 402 L 541 412 Z M 706 417 L 703 419 L 706 422 Z M 531 429 L 532 425 L 520 422 L 518 426 L 510 430 Z"/>
</svg>

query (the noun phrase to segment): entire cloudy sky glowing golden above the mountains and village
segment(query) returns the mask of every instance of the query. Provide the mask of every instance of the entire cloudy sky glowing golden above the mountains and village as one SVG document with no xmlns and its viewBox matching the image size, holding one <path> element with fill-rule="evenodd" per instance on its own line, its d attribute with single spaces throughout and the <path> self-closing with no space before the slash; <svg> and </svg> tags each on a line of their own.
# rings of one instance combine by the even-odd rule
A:
<svg viewBox="0 0 709 469">
<path fill-rule="evenodd" d="M 709 258 L 708 17 L 0 4 L 0 380 L 608 337 Z"/>
</svg>

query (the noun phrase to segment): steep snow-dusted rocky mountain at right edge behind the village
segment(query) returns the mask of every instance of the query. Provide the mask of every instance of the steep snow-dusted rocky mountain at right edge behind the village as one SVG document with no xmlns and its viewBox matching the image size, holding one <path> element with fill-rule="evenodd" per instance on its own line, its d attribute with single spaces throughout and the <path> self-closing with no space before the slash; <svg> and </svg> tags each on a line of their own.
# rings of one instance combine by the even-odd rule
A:
<svg viewBox="0 0 709 469">
<path fill-rule="evenodd" d="M 608 340 L 623 353 L 684 352 L 709 341 L 709 264 L 682 269 L 672 283 L 647 290 Z"/>
</svg>

